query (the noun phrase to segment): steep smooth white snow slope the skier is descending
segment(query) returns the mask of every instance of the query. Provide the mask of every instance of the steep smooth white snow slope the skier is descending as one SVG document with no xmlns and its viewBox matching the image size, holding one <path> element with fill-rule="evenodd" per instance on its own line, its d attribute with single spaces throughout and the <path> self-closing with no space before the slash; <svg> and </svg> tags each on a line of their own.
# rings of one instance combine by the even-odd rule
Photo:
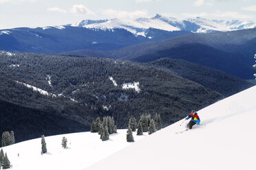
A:
<svg viewBox="0 0 256 170">
<path fill-rule="evenodd" d="M 256 86 L 200 110 L 206 125 L 175 134 L 179 121 L 87 170 L 256 169 L 255 101 Z"/>
</svg>

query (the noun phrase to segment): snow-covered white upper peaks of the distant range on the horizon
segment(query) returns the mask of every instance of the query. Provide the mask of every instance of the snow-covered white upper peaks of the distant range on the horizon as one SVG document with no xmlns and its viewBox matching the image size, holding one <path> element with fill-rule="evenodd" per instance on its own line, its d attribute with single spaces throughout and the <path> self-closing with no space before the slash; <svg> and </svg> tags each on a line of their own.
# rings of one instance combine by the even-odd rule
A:
<svg viewBox="0 0 256 170">
<path fill-rule="evenodd" d="M 251 21 L 223 21 L 210 20 L 197 17 L 195 19 L 175 19 L 156 14 L 153 18 L 139 19 L 106 19 L 99 21 L 83 20 L 72 24 L 74 27 L 87 27 L 94 29 L 127 29 L 138 36 L 147 36 L 147 29 L 162 29 L 164 31 L 186 31 L 194 33 L 226 32 L 238 29 L 256 27 Z"/>
</svg>

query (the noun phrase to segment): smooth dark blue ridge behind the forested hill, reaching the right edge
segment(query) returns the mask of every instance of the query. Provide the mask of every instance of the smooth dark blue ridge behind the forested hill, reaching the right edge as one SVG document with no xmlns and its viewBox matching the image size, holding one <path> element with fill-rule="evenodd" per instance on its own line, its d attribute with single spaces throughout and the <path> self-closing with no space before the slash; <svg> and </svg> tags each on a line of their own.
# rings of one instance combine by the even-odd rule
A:
<svg viewBox="0 0 256 170">
<path fill-rule="evenodd" d="M 151 62 L 160 58 L 175 58 L 213 69 L 253 79 L 253 56 L 256 53 L 256 28 L 232 32 L 187 34 L 158 42 L 131 45 L 111 51 L 81 49 L 63 54 Z"/>
</svg>

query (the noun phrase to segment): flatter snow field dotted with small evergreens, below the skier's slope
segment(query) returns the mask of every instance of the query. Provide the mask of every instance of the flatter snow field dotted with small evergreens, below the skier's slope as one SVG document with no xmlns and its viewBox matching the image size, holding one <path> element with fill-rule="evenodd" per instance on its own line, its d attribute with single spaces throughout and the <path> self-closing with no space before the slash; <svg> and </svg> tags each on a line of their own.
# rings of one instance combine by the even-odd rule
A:
<svg viewBox="0 0 256 170">
<path fill-rule="evenodd" d="M 3 147 L 13 165 L 12 169 L 85 169 L 116 151 L 131 145 L 126 141 L 127 130 L 111 134 L 109 141 L 101 141 L 97 133 L 81 132 L 46 136 L 47 153 L 41 155 L 41 138 Z M 61 147 L 63 136 L 67 138 L 67 149 Z M 147 136 L 136 136 L 135 141 Z M 19 156 L 18 156 L 19 154 Z"/>
</svg>

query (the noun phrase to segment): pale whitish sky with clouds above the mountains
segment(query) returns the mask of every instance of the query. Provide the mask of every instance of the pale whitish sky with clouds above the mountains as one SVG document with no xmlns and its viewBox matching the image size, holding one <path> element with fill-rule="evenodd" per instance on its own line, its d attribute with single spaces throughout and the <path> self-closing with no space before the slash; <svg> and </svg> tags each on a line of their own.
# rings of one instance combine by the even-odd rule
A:
<svg viewBox="0 0 256 170">
<path fill-rule="evenodd" d="M 0 29 L 45 27 L 83 19 L 153 17 L 253 21 L 255 0 L 0 0 Z"/>
</svg>

